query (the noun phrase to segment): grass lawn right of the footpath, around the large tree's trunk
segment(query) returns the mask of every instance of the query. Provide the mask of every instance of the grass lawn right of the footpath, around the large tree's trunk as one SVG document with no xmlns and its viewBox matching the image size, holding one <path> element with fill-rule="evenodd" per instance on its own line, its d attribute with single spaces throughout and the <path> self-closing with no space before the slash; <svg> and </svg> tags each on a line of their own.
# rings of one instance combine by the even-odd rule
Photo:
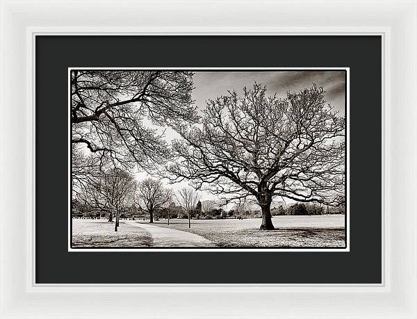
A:
<svg viewBox="0 0 417 319">
<path fill-rule="evenodd" d="M 261 218 L 245 220 L 173 219 L 154 224 L 203 236 L 220 247 L 345 247 L 345 216 L 275 216 L 273 231 L 259 231 Z"/>
</svg>

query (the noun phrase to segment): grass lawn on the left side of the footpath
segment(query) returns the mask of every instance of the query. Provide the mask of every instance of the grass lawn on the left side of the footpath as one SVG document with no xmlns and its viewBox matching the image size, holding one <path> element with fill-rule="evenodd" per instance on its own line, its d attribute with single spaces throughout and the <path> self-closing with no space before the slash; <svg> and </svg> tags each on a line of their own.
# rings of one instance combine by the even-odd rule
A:
<svg viewBox="0 0 417 319">
<path fill-rule="evenodd" d="M 100 220 L 72 220 L 72 247 L 149 247 L 152 237 L 145 230 L 120 220 L 120 227 Z"/>
</svg>

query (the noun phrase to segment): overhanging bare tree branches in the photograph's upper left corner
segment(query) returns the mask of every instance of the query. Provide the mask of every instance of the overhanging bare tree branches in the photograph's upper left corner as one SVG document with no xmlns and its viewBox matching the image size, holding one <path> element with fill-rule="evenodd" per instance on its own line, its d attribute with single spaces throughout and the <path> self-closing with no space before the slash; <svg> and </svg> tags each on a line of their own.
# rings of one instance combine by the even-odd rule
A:
<svg viewBox="0 0 417 319">
<path fill-rule="evenodd" d="M 149 169 L 168 149 L 163 133 L 142 121 L 172 127 L 194 122 L 192 90 L 193 72 L 73 70 L 72 145 L 83 145 L 95 158 L 88 165 Z"/>
</svg>

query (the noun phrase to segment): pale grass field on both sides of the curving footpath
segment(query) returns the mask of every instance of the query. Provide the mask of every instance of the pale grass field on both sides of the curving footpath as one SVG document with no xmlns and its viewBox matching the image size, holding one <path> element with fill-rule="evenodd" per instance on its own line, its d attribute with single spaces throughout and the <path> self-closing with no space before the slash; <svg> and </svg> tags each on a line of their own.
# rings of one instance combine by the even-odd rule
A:
<svg viewBox="0 0 417 319">
<path fill-rule="evenodd" d="M 74 219 L 73 247 L 152 247 L 152 234 L 140 227 L 147 222 L 138 222 L 121 221 L 115 232 L 114 224 L 104 219 Z M 154 225 L 197 234 L 218 247 L 345 247 L 344 215 L 275 216 L 272 222 L 274 231 L 259 231 L 261 218 L 191 220 L 190 229 L 186 219 Z"/>
</svg>

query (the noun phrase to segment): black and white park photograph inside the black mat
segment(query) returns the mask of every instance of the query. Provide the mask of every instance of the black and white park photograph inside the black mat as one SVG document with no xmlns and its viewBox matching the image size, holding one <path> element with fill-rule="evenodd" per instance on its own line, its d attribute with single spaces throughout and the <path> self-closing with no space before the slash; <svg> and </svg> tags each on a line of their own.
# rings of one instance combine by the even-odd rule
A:
<svg viewBox="0 0 417 319">
<path fill-rule="evenodd" d="M 349 69 L 68 69 L 71 250 L 348 250 Z"/>
</svg>

